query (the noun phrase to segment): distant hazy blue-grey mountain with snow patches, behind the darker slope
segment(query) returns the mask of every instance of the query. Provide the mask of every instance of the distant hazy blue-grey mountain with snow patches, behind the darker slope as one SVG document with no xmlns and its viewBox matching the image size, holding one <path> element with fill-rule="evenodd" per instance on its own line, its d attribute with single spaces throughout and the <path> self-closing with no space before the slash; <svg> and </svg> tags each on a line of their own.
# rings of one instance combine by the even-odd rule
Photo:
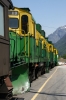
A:
<svg viewBox="0 0 66 100">
<path fill-rule="evenodd" d="M 52 34 L 48 36 L 48 40 L 56 43 L 66 34 L 66 25 L 56 29 Z"/>
</svg>

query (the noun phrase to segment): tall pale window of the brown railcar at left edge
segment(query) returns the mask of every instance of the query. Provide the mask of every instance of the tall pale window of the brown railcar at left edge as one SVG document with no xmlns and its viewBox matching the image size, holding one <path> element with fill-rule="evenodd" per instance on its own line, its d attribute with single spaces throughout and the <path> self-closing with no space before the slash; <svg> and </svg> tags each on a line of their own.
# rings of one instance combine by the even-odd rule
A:
<svg viewBox="0 0 66 100">
<path fill-rule="evenodd" d="M 4 36 L 4 7 L 0 4 L 0 35 Z"/>
</svg>

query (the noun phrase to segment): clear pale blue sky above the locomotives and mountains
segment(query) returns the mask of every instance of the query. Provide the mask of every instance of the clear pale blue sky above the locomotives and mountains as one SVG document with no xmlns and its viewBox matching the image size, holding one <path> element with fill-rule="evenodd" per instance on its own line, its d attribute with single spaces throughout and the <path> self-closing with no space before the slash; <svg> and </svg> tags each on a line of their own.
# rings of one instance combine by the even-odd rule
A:
<svg viewBox="0 0 66 100">
<path fill-rule="evenodd" d="M 12 0 L 16 7 L 28 7 L 46 36 L 66 25 L 66 0 Z"/>
</svg>

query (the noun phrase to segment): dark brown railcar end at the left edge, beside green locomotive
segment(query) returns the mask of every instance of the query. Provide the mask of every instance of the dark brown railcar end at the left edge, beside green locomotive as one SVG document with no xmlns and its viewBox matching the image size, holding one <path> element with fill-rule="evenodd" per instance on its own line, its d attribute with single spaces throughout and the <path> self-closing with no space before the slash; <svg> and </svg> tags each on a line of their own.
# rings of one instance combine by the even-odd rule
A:
<svg viewBox="0 0 66 100">
<path fill-rule="evenodd" d="M 12 92 L 8 37 L 8 9 L 12 7 L 11 0 L 0 0 L 0 100 L 8 100 L 11 97 L 8 92 Z"/>
</svg>

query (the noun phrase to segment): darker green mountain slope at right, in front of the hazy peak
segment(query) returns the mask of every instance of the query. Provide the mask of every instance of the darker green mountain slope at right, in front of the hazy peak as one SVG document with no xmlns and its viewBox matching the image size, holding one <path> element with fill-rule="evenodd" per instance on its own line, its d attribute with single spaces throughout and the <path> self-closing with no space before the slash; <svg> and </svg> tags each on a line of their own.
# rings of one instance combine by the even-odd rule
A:
<svg viewBox="0 0 66 100">
<path fill-rule="evenodd" d="M 66 54 L 66 34 L 54 46 L 58 49 L 59 55 Z"/>
</svg>

